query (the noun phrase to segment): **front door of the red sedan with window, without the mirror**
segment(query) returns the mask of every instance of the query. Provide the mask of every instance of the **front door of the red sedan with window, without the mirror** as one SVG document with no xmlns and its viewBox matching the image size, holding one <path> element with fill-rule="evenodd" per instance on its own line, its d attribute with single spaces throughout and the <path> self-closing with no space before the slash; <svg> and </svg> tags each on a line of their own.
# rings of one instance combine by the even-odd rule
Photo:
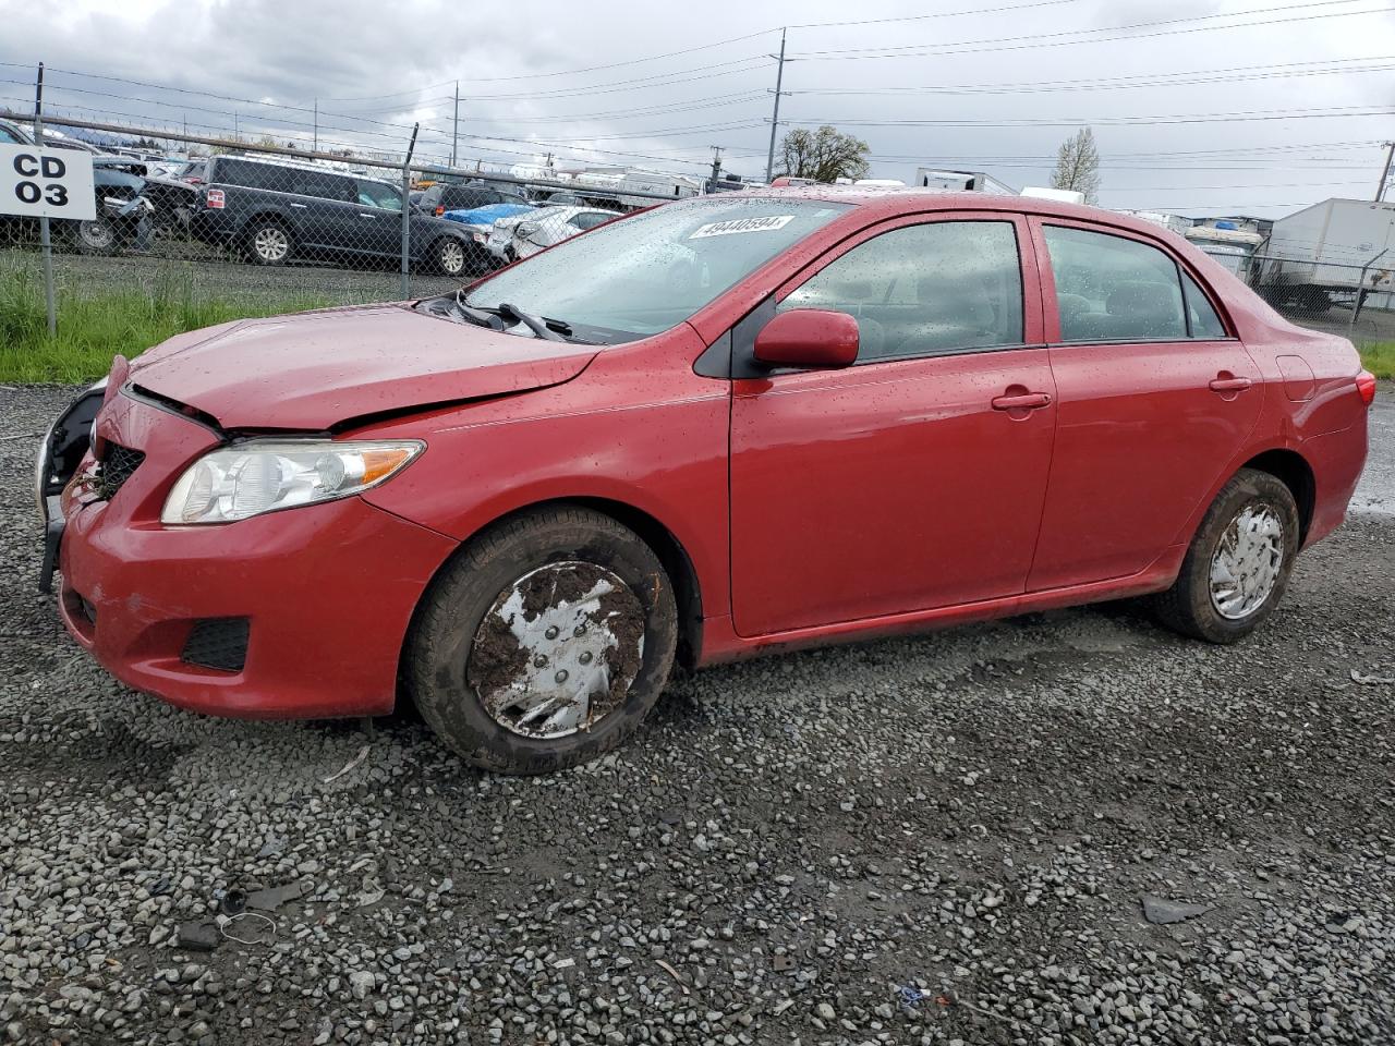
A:
<svg viewBox="0 0 1395 1046">
<path fill-rule="evenodd" d="M 1023 591 L 1055 425 L 1025 244 L 1014 216 L 912 216 L 777 291 L 774 310 L 851 312 L 861 344 L 847 370 L 734 382 L 739 635 Z M 759 318 L 734 332 L 734 374 Z"/>
</svg>

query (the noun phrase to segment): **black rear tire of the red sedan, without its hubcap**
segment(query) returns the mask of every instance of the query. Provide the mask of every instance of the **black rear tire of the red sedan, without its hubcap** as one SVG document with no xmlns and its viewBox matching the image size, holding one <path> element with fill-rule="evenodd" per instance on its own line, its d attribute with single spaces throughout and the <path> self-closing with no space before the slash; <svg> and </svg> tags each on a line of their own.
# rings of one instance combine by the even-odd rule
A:
<svg viewBox="0 0 1395 1046">
<path fill-rule="evenodd" d="M 1243 616 L 1226 616 L 1216 605 L 1211 590 L 1211 565 L 1216 545 L 1230 523 L 1247 508 L 1269 509 L 1279 520 L 1282 548 L 1278 575 L 1262 602 Z M 1154 608 L 1163 625 L 1184 636 L 1209 643 L 1235 643 L 1258 628 L 1283 598 L 1293 561 L 1299 552 L 1299 509 L 1293 492 L 1282 480 L 1256 469 L 1242 469 L 1216 495 L 1207 509 L 1191 547 L 1182 561 L 1177 580 L 1165 593 L 1154 597 Z"/>
</svg>

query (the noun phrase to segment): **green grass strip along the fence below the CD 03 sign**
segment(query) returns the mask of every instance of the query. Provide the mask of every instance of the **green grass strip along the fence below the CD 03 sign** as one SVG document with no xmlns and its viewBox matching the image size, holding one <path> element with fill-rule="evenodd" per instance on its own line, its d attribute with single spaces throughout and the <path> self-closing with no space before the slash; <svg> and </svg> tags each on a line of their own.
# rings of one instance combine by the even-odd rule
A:
<svg viewBox="0 0 1395 1046">
<path fill-rule="evenodd" d="M 310 297 L 219 297 L 187 273 L 158 271 L 135 287 L 60 285 L 49 336 L 38 264 L 0 265 L 0 382 L 91 382 L 112 357 L 134 357 L 184 331 L 331 304 Z"/>
</svg>

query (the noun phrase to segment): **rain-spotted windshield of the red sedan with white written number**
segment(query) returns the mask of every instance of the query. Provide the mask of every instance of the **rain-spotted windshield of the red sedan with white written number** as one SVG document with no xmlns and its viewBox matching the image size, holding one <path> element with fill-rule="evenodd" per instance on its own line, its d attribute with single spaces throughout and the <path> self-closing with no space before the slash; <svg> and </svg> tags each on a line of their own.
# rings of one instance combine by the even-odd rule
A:
<svg viewBox="0 0 1395 1046">
<path fill-rule="evenodd" d="M 477 285 L 466 304 L 516 310 L 628 342 L 681 324 L 848 211 L 809 199 L 665 204 L 604 225 Z"/>
</svg>

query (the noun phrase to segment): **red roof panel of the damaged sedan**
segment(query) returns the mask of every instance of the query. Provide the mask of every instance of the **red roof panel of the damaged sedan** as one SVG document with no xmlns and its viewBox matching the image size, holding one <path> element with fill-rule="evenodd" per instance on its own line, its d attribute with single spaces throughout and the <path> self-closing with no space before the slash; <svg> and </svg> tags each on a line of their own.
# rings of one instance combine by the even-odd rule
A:
<svg viewBox="0 0 1395 1046">
<path fill-rule="evenodd" d="M 830 204 L 851 204 L 858 208 L 864 218 L 897 218 L 923 211 L 1002 211 L 1010 215 L 1043 215 L 1112 225 L 1120 229 L 1147 233 L 1155 238 L 1158 238 L 1156 234 L 1159 232 L 1166 232 L 1151 222 L 1085 204 L 1064 204 L 1038 197 L 1006 197 L 990 192 L 965 192 L 961 190 L 905 188 L 901 185 L 797 185 L 790 188 L 742 190 L 741 197 L 746 199 L 810 199 Z M 702 198 L 731 202 L 734 197 L 730 192 L 723 192 Z"/>
</svg>

